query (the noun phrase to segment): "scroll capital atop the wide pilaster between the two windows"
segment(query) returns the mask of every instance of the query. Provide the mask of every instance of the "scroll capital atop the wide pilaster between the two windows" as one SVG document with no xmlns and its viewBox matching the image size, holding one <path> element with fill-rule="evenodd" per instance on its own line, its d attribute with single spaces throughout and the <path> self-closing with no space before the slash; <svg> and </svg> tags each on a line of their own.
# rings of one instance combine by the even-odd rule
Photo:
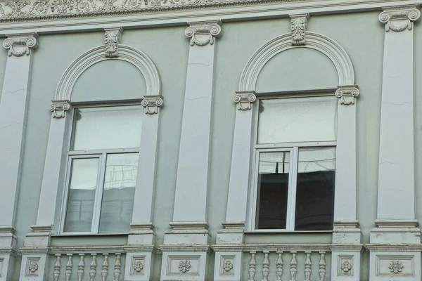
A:
<svg viewBox="0 0 422 281">
<path fill-rule="evenodd" d="M 222 22 L 188 22 L 189 27 L 185 35 L 191 38 L 191 46 L 205 46 L 214 44 L 215 37 L 222 34 Z"/>
</svg>

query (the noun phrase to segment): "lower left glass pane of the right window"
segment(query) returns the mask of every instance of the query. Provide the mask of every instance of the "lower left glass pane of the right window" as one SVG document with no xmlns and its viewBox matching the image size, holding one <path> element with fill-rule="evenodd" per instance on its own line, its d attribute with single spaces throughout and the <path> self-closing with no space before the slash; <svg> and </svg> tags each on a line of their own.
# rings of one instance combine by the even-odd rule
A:
<svg viewBox="0 0 422 281">
<path fill-rule="evenodd" d="M 286 229 L 290 152 L 262 152 L 258 168 L 257 229 Z"/>
</svg>

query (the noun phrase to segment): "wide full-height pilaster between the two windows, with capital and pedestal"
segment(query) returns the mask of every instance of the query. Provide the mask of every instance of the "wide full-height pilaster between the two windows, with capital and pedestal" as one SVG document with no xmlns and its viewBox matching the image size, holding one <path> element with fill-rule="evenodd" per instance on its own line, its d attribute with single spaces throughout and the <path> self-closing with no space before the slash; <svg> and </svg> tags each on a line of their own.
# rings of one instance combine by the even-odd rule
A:
<svg viewBox="0 0 422 281">
<path fill-rule="evenodd" d="M 172 230 L 165 233 L 161 280 L 205 280 L 210 252 L 207 188 L 216 38 L 221 22 L 188 22 L 190 38 Z M 182 253 L 179 253 L 182 252 Z"/>
</svg>

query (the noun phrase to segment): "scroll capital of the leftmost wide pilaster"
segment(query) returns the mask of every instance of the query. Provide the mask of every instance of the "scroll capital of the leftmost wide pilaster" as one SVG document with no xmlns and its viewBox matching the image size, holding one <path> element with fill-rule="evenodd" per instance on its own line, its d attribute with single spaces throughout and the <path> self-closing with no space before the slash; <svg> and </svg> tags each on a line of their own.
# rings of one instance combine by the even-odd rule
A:
<svg viewBox="0 0 422 281">
<path fill-rule="evenodd" d="M 6 34 L 7 39 L 3 41 L 4 48 L 8 48 L 8 56 L 20 57 L 30 55 L 31 49 L 39 46 L 37 33 Z"/>
</svg>

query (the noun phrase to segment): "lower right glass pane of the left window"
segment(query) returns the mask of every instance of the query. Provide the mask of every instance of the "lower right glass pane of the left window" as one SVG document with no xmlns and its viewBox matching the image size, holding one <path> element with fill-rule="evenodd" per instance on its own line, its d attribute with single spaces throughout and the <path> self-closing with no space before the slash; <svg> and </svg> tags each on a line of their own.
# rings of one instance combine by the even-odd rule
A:
<svg viewBox="0 0 422 281">
<path fill-rule="evenodd" d="M 129 233 L 139 153 L 107 156 L 100 233 Z"/>
</svg>

